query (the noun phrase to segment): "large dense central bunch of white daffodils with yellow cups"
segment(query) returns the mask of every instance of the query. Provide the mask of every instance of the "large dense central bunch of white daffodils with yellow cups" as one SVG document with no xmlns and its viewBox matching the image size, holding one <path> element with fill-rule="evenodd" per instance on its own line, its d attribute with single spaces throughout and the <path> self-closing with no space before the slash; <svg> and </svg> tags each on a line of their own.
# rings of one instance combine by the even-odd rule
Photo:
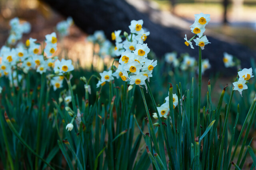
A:
<svg viewBox="0 0 256 170">
<path fill-rule="evenodd" d="M 122 41 L 120 37 L 121 30 L 112 33 L 112 39 L 116 41 L 115 54 L 121 55 L 119 65 L 112 74 L 112 70 L 100 73 L 101 80 L 97 87 L 104 85 L 105 82 L 113 80 L 113 76 L 121 78 L 123 81 L 130 81 L 131 85 L 145 85 L 146 78 L 152 77 L 154 67 L 157 61 L 147 58 L 150 49 L 144 41 L 147 39 L 149 32 L 145 32 L 142 28 L 142 20 L 132 20 L 129 26 L 131 34 L 124 33 L 126 39 Z"/>
</svg>

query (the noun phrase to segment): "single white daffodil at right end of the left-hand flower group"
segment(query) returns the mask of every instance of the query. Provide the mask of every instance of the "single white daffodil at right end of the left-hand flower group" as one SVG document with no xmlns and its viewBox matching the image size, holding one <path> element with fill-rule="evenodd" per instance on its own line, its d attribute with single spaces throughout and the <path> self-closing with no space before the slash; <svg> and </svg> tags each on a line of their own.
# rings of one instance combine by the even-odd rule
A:
<svg viewBox="0 0 256 170">
<path fill-rule="evenodd" d="M 61 62 L 57 60 L 54 66 L 54 72 L 65 73 L 74 70 L 72 60 L 62 59 Z"/>
</svg>

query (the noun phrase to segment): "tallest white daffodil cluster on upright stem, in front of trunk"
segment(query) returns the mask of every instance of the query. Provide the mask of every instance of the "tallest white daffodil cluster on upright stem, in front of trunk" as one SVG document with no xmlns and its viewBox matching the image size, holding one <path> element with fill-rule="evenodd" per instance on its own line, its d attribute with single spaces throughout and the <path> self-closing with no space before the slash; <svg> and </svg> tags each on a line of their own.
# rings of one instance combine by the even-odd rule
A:
<svg viewBox="0 0 256 170">
<path fill-rule="evenodd" d="M 206 35 L 203 36 L 203 33 L 205 31 L 205 26 L 209 23 L 210 21 L 210 14 L 195 14 L 195 21 L 192 25 L 190 25 L 190 29 L 192 33 L 195 33 L 198 38 L 194 39 L 194 37 L 192 37 L 192 39 L 194 39 L 196 45 L 200 46 L 201 49 L 204 49 L 204 46 L 208 43 L 210 43 L 206 37 Z M 188 40 L 187 39 L 187 35 L 185 34 L 185 44 L 188 46 L 190 45 L 190 47 L 192 49 L 194 49 L 193 45 L 192 45 L 192 39 Z"/>
</svg>

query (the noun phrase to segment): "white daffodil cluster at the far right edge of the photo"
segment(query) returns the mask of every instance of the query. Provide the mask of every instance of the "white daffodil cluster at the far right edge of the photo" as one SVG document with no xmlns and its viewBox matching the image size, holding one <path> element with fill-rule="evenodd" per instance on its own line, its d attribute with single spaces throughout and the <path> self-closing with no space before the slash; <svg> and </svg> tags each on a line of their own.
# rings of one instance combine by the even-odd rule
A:
<svg viewBox="0 0 256 170">
<path fill-rule="evenodd" d="M 248 83 L 248 80 L 250 80 L 250 78 L 254 77 L 252 75 L 252 68 L 244 68 L 241 71 L 238 72 L 238 76 L 239 79 L 237 82 L 234 82 L 234 90 L 237 90 L 241 96 L 242 96 L 242 91 L 245 89 L 248 89 L 248 86 L 246 85 L 246 83 Z"/>
</svg>

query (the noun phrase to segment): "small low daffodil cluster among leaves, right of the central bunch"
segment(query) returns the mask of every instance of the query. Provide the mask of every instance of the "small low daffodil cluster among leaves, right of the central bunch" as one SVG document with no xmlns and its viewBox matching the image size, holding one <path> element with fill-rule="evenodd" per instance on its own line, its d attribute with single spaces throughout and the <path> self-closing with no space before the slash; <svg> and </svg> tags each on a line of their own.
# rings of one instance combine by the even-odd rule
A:
<svg viewBox="0 0 256 170">
<path fill-rule="evenodd" d="M 160 117 L 167 118 L 168 112 L 170 111 L 170 106 L 169 106 L 169 94 L 165 98 L 165 103 L 162 104 L 160 107 L 156 107 L 159 113 Z M 178 105 L 178 96 L 176 94 L 172 95 L 172 101 L 173 101 L 173 108 L 175 108 Z M 153 117 L 155 119 L 158 119 L 157 114 L 153 113 Z"/>
</svg>

